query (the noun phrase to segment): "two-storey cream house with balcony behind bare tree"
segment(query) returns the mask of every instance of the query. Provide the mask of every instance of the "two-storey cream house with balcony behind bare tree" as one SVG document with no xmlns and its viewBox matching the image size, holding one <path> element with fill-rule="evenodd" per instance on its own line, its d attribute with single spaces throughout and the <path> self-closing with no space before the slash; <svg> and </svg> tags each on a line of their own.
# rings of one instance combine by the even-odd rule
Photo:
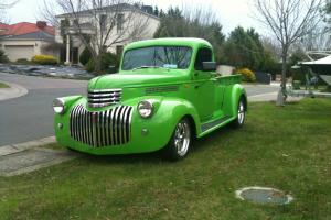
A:
<svg viewBox="0 0 331 220">
<path fill-rule="evenodd" d="M 60 61 L 65 64 L 79 64 L 79 56 L 86 47 L 81 41 L 82 34 L 84 37 L 95 40 L 106 38 L 105 45 L 110 45 L 106 51 L 119 55 L 126 44 L 152 38 L 160 24 L 160 19 L 152 14 L 151 7 L 137 8 L 125 3 L 82 10 L 75 15 L 60 14 L 56 19 L 58 25 L 55 28 L 55 42 L 64 45 L 60 53 Z M 131 21 L 135 23 L 146 22 L 146 24 L 139 34 L 127 36 L 130 29 L 134 29 L 132 23 L 128 24 Z M 109 34 L 103 35 L 107 30 L 110 30 Z M 122 41 L 116 41 L 117 38 L 122 38 Z M 93 44 L 90 43 L 90 45 Z"/>
</svg>

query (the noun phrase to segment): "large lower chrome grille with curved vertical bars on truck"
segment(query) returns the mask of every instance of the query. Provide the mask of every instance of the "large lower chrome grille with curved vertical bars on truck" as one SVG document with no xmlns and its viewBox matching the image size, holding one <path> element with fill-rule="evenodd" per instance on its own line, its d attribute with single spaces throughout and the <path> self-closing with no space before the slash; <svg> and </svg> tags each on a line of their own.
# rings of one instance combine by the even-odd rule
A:
<svg viewBox="0 0 331 220">
<path fill-rule="evenodd" d="M 71 112 L 71 136 L 94 147 L 126 144 L 131 136 L 132 110 L 132 107 L 120 106 L 90 112 L 78 105 Z"/>
</svg>

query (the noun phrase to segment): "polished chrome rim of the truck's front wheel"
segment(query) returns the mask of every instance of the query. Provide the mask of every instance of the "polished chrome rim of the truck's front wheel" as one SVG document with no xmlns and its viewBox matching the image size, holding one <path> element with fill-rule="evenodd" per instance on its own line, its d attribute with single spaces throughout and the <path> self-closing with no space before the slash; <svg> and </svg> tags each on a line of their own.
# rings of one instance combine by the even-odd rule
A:
<svg viewBox="0 0 331 220">
<path fill-rule="evenodd" d="M 177 153 L 180 156 L 184 156 L 188 153 L 189 145 L 191 141 L 191 131 L 190 125 L 185 121 L 181 121 L 177 124 L 174 131 L 174 146 L 177 148 Z"/>
</svg>

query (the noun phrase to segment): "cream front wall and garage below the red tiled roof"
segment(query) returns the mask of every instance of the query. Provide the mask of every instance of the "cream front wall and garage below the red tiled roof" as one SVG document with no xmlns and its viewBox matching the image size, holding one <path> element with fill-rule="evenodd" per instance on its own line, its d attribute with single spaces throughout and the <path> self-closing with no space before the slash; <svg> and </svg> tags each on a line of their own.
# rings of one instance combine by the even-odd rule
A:
<svg viewBox="0 0 331 220">
<path fill-rule="evenodd" d="M 46 54 L 58 56 L 57 50 L 45 50 L 50 42 L 33 40 L 4 40 L 0 41 L 0 48 L 8 55 L 9 61 L 15 62 L 20 58 L 31 59 L 34 55 Z"/>
</svg>

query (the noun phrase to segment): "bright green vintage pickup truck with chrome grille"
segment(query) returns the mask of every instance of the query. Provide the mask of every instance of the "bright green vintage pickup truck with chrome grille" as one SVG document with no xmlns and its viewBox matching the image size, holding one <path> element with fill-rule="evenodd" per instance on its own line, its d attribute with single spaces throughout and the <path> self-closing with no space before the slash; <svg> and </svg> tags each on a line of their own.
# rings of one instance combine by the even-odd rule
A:
<svg viewBox="0 0 331 220">
<path fill-rule="evenodd" d="M 212 45 L 200 38 L 158 38 L 126 46 L 118 74 L 93 78 L 87 97 L 53 101 L 57 142 L 97 154 L 161 150 L 186 156 L 195 138 L 247 111 L 241 76 L 216 74 Z"/>
</svg>

